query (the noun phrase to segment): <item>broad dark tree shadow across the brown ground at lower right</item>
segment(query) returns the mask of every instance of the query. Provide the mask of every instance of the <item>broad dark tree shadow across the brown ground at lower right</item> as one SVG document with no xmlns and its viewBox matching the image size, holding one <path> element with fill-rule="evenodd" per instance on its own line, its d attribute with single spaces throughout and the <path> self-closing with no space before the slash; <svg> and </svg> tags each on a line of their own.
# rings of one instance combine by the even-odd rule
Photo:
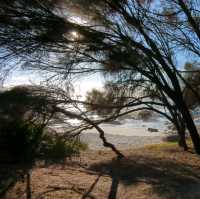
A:
<svg viewBox="0 0 200 199">
<path fill-rule="evenodd" d="M 200 167 L 176 160 L 135 155 L 123 160 L 113 159 L 91 165 L 91 170 L 112 177 L 109 199 L 117 198 L 118 184 L 130 186 L 143 182 L 165 199 L 200 198 Z"/>
</svg>

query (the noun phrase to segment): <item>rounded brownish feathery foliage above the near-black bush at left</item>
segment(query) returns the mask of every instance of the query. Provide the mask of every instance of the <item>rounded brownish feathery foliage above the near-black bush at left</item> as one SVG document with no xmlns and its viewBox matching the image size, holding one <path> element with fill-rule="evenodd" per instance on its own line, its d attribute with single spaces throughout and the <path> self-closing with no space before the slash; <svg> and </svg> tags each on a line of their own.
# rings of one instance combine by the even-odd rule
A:
<svg viewBox="0 0 200 199">
<path fill-rule="evenodd" d="M 0 93 L 0 127 L 28 121 L 45 127 L 53 117 L 53 100 L 44 87 L 16 86 Z"/>
</svg>

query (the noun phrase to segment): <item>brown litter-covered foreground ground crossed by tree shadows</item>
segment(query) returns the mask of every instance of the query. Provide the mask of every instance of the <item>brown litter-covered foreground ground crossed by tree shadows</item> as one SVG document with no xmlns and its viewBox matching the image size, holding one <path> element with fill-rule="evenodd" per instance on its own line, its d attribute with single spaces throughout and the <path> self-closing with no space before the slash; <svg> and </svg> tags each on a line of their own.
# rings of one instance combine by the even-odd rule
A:
<svg viewBox="0 0 200 199">
<path fill-rule="evenodd" d="M 25 199 L 199 199 L 200 157 L 173 143 L 123 151 L 87 151 L 81 161 L 38 163 L 2 197 Z M 28 188 L 27 189 L 27 185 Z"/>
</svg>

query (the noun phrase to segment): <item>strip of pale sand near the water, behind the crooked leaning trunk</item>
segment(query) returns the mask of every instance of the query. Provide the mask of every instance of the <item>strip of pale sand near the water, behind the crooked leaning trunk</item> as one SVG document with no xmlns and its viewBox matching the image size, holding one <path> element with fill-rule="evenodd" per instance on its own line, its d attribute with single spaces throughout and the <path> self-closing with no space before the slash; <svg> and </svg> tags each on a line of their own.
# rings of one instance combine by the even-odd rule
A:
<svg viewBox="0 0 200 199">
<path fill-rule="evenodd" d="M 149 132 L 147 128 L 142 127 L 134 128 L 125 125 L 102 125 L 101 127 L 105 131 L 107 140 L 119 149 L 138 148 L 161 143 L 169 135 L 163 131 Z M 81 140 L 87 143 L 90 149 L 105 149 L 95 129 L 83 132 Z"/>
</svg>

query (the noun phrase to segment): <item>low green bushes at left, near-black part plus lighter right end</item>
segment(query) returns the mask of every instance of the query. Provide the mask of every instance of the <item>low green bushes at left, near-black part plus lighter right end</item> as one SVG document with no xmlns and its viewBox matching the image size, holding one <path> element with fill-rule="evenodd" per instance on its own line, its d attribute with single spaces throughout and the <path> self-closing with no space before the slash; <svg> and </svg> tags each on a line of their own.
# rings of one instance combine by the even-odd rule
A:
<svg viewBox="0 0 200 199">
<path fill-rule="evenodd" d="M 64 159 L 87 149 L 87 144 L 76 138 L 66 140 L 60 135 L 43 133 L 39 126 L 23 121 L 3 125 L 0 139 L 14 161 L 34 161 L 36 157 Z"/>
</svg>

